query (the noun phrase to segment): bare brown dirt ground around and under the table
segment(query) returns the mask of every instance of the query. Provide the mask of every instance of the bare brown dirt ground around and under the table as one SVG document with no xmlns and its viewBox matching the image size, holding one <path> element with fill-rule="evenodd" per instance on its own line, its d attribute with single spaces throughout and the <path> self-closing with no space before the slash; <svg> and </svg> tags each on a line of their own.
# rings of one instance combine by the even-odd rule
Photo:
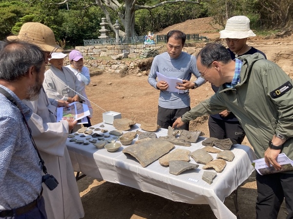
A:
<svg viewBox="0 0 293 219">
<path fill-rule="evenodd" d="M 164 31 L 167 33 L 170 29 L 179 29 L 185 33 L 206 32 L 202 36 L 215 40 L 219 37 L 219 28 L 211 26 L 209 18 L 201 18 L 173 25 Z M 165 33 L 164 31 L 160 34 Z M 248 44 L 263 51 L 268 59 L 279 64 L 292 77 L 293 43 L 291 41 L 292 37 L 269 40 L 253 37 Z M 91 77 L 91 84 L 86 87 L 86 93 L 95 103 L 92 104 L 94 108 L 92 124 L 102 122 L 102 113 L 109 110 L 121 112 L 123 118 L 133 119 L 136 123 L 156 122 L 159 91 L 147 83 L 147 76 L 120 77 L 120 75 L 99 72 Z M 212 94 L 209 83 L 190 90 L 191 107 Z M 198 118 L 190 127 L 192 130 L 203 131 L 205 136 L 209 137 L 207 117 Z M 243 144 L 250 146 L 247 139 Z M 84 219 L 215 219 L 209 205 L 169 201 L 137 189 L 90 177 L 79 180 L 78 186 L 84 205 Z M 252 173 L 238 188 L 241 219 L 255 218 L 256 195 L 255 177 Z M 235 213 L 232 195 L 227 197 L 224 203 Z M 285 218 L 286 207 L 283 203 L 278 219 Z"/>
</svg>

